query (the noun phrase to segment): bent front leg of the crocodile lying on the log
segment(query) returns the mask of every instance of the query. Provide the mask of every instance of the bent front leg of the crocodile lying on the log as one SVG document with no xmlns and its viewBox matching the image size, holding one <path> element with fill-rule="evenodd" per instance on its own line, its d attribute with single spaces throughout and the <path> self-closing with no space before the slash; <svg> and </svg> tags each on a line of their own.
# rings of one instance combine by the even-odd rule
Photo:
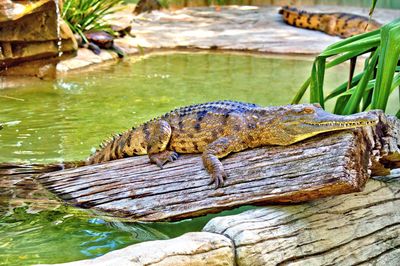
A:
<svg viewBox="0 0 400 266">
<path fill-rule="evenodd" d="M 222 187 L 227 177 L 224 167 L 219 160 L 231 152 L 238 152 L 248 148 L 238 137 L 222 137 L 208 144 L 203 152 L 204 167 L 211 175 L 211 182 L 215 187 Z"/>
</svg>

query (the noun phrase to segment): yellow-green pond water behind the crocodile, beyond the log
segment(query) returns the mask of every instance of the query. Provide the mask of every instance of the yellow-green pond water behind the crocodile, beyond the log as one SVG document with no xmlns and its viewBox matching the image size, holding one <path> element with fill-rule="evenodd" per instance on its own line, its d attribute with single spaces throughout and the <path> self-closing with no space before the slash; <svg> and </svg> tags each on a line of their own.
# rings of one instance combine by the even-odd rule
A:
<svg viewBox="0 0 400 266">
<path fill-rule="evenodd" d="M 182 105 L 219 99 L 287 104 L 311 62 L 223 54 L 134 60 L 0 90 L 0 122 L 9 125 L 0 131 L 0 162 L 85 159 L 112 134 Z M 343 80 L 340 73 L 328 83 Z"/>
</svg>

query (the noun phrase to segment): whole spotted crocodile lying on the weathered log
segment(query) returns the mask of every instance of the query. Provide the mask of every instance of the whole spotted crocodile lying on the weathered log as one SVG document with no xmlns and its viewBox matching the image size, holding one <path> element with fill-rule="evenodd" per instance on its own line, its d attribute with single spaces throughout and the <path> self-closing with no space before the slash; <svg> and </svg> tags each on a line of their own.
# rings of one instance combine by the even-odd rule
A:
<svg viewBox="0 0 400 266">
<path fill-rule="evenodd" d="M 136 129 L 114 137 L 87 164 L 148 154 L 162 168 L 177 153 L 202 153 L 211 183 L 223 185 L 226 173 L 220 158 L 265 145 L 290 145 L 322 132 L 376 124 L 367 113 L 339 116 L 319 105 L 260 107 L 219 101 L 173 110 Z"/>
</svg>

